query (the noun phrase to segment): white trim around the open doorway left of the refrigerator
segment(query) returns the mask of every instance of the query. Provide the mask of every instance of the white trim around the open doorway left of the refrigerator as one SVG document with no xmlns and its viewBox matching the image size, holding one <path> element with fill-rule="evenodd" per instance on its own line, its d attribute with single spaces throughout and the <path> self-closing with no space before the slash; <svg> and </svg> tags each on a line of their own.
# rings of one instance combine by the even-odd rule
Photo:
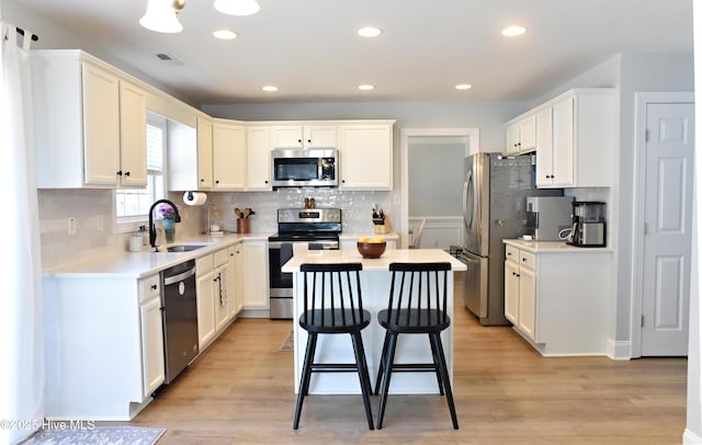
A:
<svg viewBox="0 0 702 445">
<path fill-rule="evenodd" d="M 401 128 L 400 129 L 400 227 L 399 242 L 401 249 L 409 246 L 409 139 L 412 136 L 434 137 L 466 137 L 471 153 L 480 151 L 480 129 L 476 127 L 464 128 Z M 468 153 L 466 153 L 467 156 Z"/>
</svg>

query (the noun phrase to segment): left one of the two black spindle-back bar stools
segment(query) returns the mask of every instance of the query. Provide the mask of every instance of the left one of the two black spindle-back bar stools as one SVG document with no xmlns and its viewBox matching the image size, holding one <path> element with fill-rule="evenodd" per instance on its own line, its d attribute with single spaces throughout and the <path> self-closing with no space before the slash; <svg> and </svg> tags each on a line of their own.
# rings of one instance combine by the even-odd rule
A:
<svg viewBox="0 0 702 445">
<path fill-rule="evenodd" d="M 342 264 L 302 264 L 304 272 L 304 311 L 299 316 L 299 326 L 307 331 L 307 349 L 293 430 L 299 425 L 303 401 L 309 390 L 312 373 L 358 372 L 363 393 L 365 415 L 369 429 L 373 430 L 373 413 L 370 395 L 371 378 L 365 361 L 361 330 L 371 323 L 371 312 L 363 309 L 361 297 L 361 263 Z M 315 363 L 315 350 L 318 334 L 351 334 L 355 363 Z"/>
</svg>

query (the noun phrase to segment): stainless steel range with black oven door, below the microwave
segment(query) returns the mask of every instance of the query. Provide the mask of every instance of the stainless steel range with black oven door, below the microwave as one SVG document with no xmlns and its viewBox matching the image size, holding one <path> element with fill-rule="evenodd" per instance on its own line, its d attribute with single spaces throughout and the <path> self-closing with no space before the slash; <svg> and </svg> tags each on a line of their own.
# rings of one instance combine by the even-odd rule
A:
<svg viewBox="0 0 702 445">
<path fill-rule="evenodd" d="M 293 258 L 294 244 L 308 250 L 338 250 L 340 208 L 281 208 L 278 233 L 269 237 L 270 307 L 272 319 L 293 318 L 293 274 L 281 266 Z"/>
</svg>

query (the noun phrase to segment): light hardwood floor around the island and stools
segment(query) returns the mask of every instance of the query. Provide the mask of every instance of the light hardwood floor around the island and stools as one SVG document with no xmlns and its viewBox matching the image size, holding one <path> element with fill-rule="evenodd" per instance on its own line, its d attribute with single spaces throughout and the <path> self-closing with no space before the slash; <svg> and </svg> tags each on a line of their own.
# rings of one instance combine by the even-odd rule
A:
<svg viewBox="0 0 702 445">
<path fill-rule="evenodd" d="M 679 444 L 686 358 L 544 358 L 510 328 L 482 327 L 460 303 L 454 398 L 390 396 L 369 431 L 361 396 L 309 396 L 293 431 L 291 321 L 241 319 L 131 423 L 161 444 Z M 377 412 L 377 397 L 372 398 Z"/>
</svg>

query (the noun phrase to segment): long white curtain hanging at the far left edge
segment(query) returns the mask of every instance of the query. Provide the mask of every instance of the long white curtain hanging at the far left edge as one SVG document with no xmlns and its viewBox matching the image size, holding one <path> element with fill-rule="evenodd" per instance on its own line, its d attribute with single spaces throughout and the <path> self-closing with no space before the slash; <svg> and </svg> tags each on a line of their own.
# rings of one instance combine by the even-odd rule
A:
<svg viewBox="0 0 702 445">
<path fill-rule="evenodd" d="M 0 191 L 4 235 L 0 293 L 0 444 L 18 443 L 44 419 L 44 322 L 38 208 L 34 185 L 32 95 L 24 37 L 2 23 L 0 91 Z M 16 422 L 16 423 L 15 423 Z"/>
</svg>

